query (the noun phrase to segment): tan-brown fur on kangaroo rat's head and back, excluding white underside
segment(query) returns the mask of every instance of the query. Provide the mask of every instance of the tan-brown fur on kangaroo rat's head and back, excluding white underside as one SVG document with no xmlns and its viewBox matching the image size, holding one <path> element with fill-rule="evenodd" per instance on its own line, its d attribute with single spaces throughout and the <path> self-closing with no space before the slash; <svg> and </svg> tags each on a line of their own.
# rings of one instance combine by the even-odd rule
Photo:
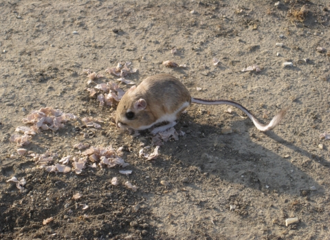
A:
<svg viewBox="0 0 330 240">
<path fill-rule="evenodd" d="M 134 110 L 134 103 L 139 99 L 146 100 L 144 110 Z M 172 75 L 159 74 L 147 77 L 139 86 L 127 91 L 122 97 L 115 121 L 124 123 L 129 128 L 139 129 L 143 125 L 151 125 L 164 114 L 175 112 L 185 101 L 190 103 L 190 99 L 187 88 Z M 135 112 L 135 119 L 126 119 L 128 109 Z M 178 112 L 177 117 L 180 113 Z"/>
</svg>

